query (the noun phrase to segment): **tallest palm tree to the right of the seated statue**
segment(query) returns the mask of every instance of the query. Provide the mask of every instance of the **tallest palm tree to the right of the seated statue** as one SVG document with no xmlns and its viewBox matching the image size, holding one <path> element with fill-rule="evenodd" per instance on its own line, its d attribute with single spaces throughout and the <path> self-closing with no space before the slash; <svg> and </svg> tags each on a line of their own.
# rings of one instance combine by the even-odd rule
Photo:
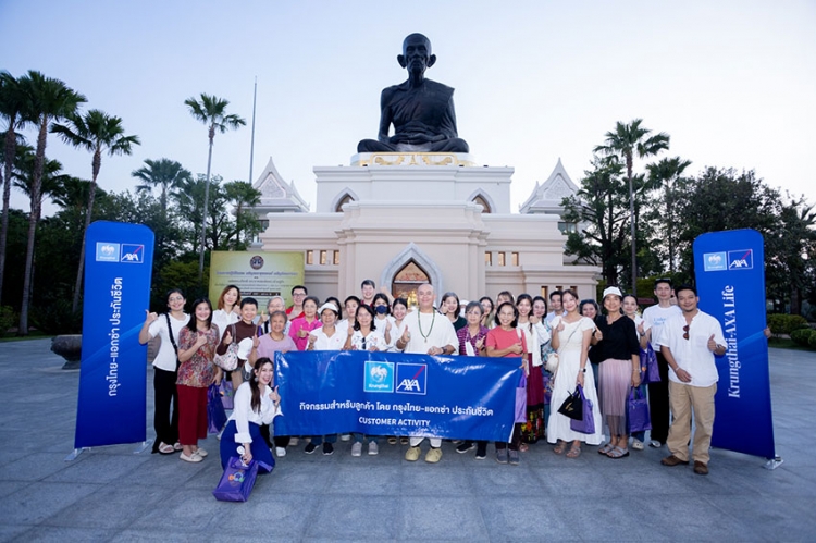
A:
<svg viewBox="0 0 816 543">
<path fill-rule="evenodd" d="M 642 119 L 635 119 L 629 124 L 616 123 L 615 132 L 607 132 L 604 136 L 605 145 L 595 147 L 595 152 L 615 156 L 622 159 L 627 165 L 627 181 L 629 182 L 629 213 L 631 215 L 632 235 L 632 294 L 638 296 L 638 248 L 635 243 L 634 189 L 632 186 L 632 164 L 634 155 L 638 158 L 652 157 L 669 148 L 669 135 L 662 132 L 648 136 L 652 131 L 641 127 Z"/>
</svg>

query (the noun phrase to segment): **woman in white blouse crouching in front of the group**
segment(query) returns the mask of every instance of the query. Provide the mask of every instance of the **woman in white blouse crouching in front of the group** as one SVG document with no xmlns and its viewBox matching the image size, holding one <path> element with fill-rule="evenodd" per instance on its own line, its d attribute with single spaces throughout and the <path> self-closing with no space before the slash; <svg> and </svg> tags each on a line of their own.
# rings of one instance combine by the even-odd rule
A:
<svg viewBox="0 0 816 543">
<path fill-rule="evenodd" d="M 275 460 L 260 432 L 261 424 L 270 424 L 275 416 L 281 415 L 281 397 L 272 388 L 273 377 L 272 360 L 259 358 L 252 367 L 252 378 L 235 392 L 235 408 L 221 435 L 221 466 L 224 469 L 230 457 L 237 456 L 238 446 L 244 447 L 240 457 L 245 462 L 256 459 L 274 467 Z M 267 470 L 261 468 L 259 472 L 265 473 Z"/>
</svg>

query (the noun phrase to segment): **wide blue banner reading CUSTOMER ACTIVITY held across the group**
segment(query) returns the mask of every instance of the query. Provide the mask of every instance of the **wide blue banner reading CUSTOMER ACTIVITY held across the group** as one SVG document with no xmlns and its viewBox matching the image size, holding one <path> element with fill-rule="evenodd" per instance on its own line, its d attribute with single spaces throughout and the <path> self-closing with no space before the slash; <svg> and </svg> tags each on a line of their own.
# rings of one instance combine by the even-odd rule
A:
<svg viewBox="0 0 816 543">
<path fill-rule="evenodd" d="M 508 358 L 277 353 L 275 434 L 508 441 L 520 378 L 518 359 Z"/>
</svg>

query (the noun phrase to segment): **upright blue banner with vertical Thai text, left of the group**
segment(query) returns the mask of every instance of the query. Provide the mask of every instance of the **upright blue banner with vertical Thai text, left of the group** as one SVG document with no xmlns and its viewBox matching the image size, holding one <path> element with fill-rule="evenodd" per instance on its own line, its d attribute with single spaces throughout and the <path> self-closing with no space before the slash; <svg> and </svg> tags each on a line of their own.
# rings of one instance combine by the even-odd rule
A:
<svg viewBox="0 0 816 543">
<path fill-rule="evenodd" d="M 85 234 L 85 295 L 76 448 L 145 441 L 147 347 L 153 233 L 97 221 Z"/>
</svg>

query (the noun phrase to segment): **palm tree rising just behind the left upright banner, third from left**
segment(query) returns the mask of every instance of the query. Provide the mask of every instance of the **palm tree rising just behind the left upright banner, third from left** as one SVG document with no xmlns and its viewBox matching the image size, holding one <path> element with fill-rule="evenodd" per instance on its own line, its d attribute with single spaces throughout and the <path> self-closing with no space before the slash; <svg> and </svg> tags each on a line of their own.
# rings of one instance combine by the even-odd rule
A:
<svg viewBox="0 0 816 543">
<path fill-rule="evenodd" d="M 90 226 L 90 218 L 94 212 L 94 196 L 97 188 L 97 177 L 102 166 L 102 153 L 109 156 L 131 155 L 134 145 L 141 145 L 138 136 L 125 136 L 122 119 L 108 115 L 103 111 L 92 109 L 85 115 L 67 115 L 67 124 L 54 124 L 51 132 L 59 134 L 62 139 L 90 151 L 91 160 L 90 193 L 88 194 L 88 210 L 85 214 L 85 226 L 83 227 L 83 244 L 79 250 L 79 269 L 76 272 L 76 285 L 74 287 L 74 301 L 72 311 L 76 312 L 79 307 L 79 294 L 83 285 L 83 270 L 85 268 L 85 232 Z"/>
</svg>

